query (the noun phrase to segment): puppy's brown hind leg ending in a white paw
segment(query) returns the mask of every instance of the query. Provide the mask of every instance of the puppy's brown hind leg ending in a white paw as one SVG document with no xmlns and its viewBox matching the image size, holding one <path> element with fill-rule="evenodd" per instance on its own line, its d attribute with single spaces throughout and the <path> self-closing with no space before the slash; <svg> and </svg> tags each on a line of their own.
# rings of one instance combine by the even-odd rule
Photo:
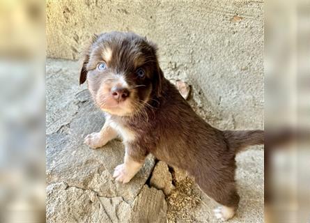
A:
<svg viewBox="0 0 310 223">
<path fill-rule="evenodd" d="M 198 177 L 196 178 L 196 183 L 203 192 L 221 204 L 221 206 L 214 210 L 217 219 L 226 221 L 235 215 L 240 197 L 233 179 L 228 180 L 222 178 L 222 176 L 208 179 L 206 177 Z"/>
</svg>

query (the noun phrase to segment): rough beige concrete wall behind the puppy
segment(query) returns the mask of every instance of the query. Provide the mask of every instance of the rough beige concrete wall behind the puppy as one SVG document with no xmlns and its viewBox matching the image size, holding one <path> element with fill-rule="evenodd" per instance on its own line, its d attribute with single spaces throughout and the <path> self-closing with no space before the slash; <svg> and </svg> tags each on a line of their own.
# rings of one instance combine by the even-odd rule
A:
<svg viewBox="0 0 310 223">
<path fill-rule="evenodd" d="M 79 59 L 93 33 L 113 30 L 157 43 L 166 77 L 192 85 L 213 125 L 263 127 L 263 2 L 47 2 L 49 57 Z"/>
</svg>

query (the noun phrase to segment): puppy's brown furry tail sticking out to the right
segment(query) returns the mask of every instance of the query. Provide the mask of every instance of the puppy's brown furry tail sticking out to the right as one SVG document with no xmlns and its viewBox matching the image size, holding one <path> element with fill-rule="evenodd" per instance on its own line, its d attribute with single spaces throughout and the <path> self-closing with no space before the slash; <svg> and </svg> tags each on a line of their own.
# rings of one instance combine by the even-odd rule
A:
<svg viewBox="0 0 310 223">
<path fill-rule="evenodd" d="M 238 153 L 247 146 L 264 144 L 265 134 L 263 130 L 223 131 L 231 150 Z"/>
</svg>

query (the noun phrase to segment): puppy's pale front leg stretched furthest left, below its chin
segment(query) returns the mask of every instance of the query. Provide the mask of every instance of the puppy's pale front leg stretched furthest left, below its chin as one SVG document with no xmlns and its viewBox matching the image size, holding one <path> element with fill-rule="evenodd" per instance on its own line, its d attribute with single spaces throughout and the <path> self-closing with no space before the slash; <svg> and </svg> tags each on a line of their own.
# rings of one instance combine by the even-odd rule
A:
<svg viewBox="0 0 310 223">
<path fill-rule="evenodd" d="M 117 137 L 117 132 L 114 128 L 109 125 L 109 120 L 107 120 L 100 132 L 93 132 L 88 134 L 84 140 L 84 144 L 91 148 L 100 148 L 107 144 L 108 141 L 115 139 Z"/>
</svg>

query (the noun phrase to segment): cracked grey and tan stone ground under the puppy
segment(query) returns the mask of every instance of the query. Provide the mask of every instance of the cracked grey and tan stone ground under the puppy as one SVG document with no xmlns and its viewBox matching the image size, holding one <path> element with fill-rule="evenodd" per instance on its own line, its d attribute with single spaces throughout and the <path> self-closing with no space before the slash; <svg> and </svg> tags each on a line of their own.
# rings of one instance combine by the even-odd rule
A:
<svg viewBox="0 0 310 223">
<path fill-rule="evenodd" d="M 195 99 L 189 103 L 209 121 Z M 217 222 L 217 203 L 152 156 L 130 183 L 116 183 L 121 141 L 97 150 L 83 144 L 103 123 L 86 86 L 79 86 L 78 63 L 47 59 L 47 222 Z M 253 147 L 237 156 L 241 201 L 229 222 L 263 222 L 263 155 Z"/>
</svg>

